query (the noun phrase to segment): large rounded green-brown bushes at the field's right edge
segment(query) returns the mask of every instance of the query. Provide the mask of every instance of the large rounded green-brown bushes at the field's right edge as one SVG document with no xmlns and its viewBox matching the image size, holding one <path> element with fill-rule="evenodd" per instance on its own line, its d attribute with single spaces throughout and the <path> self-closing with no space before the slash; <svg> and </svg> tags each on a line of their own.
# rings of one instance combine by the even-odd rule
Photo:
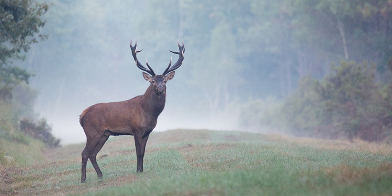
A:
<svg viewBox="0 0 392 196">
<path fill-rule="evenodd" d="M 367 62 L 342 60 L 321 81 L 301 79 L 283 105 L 289 127 L 310 136 L 385 139 L 390 131 L 385 133 L 382 128 L 390 126 L 385 118 L 390 116 L 391 102 L 388 88 L 382 93 L 375 82 L 375 69 Z"/>
</svg>

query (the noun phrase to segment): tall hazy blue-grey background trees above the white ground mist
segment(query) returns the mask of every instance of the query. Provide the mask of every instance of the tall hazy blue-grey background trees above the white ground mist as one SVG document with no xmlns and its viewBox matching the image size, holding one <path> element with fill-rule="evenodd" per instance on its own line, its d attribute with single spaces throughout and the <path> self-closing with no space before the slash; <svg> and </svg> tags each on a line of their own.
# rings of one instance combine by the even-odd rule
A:
<svg viewBox="0 0 392 196">
<path fill-rule="evenodd" d="M 209 118 L 233 113 L 232 105 L 243 100 L 282 99 L 302 76 L 322 78 L 332 61 L 369 60 L 382 74 L 392 56 L 389 1 L 51 2 L 44 28 L 50 38 L 28 66 L 45 76 L 36 80 L 45 94 L 39 105 L 67 105 L 62 113 L 80 110 L 67 100 L 123 100 L 131 87 L 143 93 L 143 80 L 123 87 L 140 78 L 129 68 L 131 38 L 157 70 L 169 61 L 167 49 L 184 40 L 186 66 L 176 75 L 182 82 L 172 83 L 181 91 L 172 92 L 167 109 Z"/>
</svg>

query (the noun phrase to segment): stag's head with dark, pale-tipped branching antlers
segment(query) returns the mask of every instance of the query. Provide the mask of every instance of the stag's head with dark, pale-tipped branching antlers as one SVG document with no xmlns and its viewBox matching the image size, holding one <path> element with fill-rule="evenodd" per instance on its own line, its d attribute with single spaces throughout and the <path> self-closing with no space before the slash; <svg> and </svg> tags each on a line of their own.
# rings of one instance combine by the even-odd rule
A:
<svg viewBox="0 0 392 196">
<path fill-rule="evenodd" d="M 136 66 L 138 66 L 139 69 L 145 71 L 145 72 L 143 72 L 143 78 L 150 82 L 150 85 L 152 85 L 152 89 L 154 90 L 154 92 L 156 92 L 157 94 L 161 94 L 161 93 L 165 92 L 166 91 L 166 82 L 173 79 L 174 73 L 175 73 L 174 70 L 177 69 L 178 67 L 180 67 L 182 65 L 182 61 L 184 60 L 184 52 L 185 52 L 184 41 L 182 41 L 182 46 L 180 46 L 180 44 L 178 44 L 178 42 L 177 42 L 178 48 L 180 49 L 179 52 L 170 51 L 174 54 L 179 55 L 178 60 L 171 67 L 172 60 L 170 58 L 169 66 L 167 66 L 167 68 L 165 69 L 165 71 L 161 75 L 156 75 L 154 73 L 154 71 L 152 70 L 150 65 L 147 63 L 147 59 L 146 59 L 146 65 L 147 65 L 148 69 L 145 68 L 138 61 L 138 59 L 136 58 L 136 53 L 142 51 L 143 49 L 138 51 L 137 44 L 138 44 L 138 42 L 136 41 L 135 45 L 132 46 L 132 40 L 131 40 L 131 44 L 129 44 L 129 46 L 131 47 L 131 50 L 132 50 L 133 59 L 136 62 Z"/>
</svg>

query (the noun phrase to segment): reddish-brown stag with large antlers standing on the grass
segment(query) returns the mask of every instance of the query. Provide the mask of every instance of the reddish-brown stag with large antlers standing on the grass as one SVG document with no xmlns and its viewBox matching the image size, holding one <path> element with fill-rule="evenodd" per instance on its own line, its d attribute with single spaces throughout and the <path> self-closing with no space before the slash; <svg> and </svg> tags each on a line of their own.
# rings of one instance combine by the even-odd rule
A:
<svg viewBox="0 0 392 196">
<path fill-rule="evenodd" d="M 93 164 L 98 177 L 102 178 L 102 172 L 96 162 L 96 155 L 109 136 L 132 135 L 134 137 L 137 158 L 136 172 L 143 172 L 143 157 L 149 134 L 155 128 L 158 116 L 165 107 L 166 82 L 173 79 L 174 70 L 182 65 L 185 46 L 184 41 L 182 41 L 182 46 L 177 42 L 180 51 L 169 50 L 179 55 L 177 62 L 171 66 L 171 58 L 163 74 L 156 75 L 147 63 L 147 58 L 148 69 L 136 58 L 136 53 L 143 50 L 138 51 L 137 44 L 136 41 L 132 46 L 131 39 L 129 46 L 132 56 L 136 66 L 144 71 L 143 78 L 150 82 L 150 85 L 143 95 L 122 102 L 97 103 L 82 112 L 79 122 L 87 138 L 86 146 L 82 152 L 82 182 L 86 180 L 88 159 Z"/>
</svg>

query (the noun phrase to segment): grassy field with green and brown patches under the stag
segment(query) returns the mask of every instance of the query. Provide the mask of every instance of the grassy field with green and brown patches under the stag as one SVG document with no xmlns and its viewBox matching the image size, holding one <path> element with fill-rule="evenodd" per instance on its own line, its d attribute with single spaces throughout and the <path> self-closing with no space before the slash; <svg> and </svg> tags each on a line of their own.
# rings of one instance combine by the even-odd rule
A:
<svg viewBox="0 0 392 196">
<path fill-rule="evenodd" d="M 109 138 L 80 183 L 84 144 L 1 167 L 0 195 L 391 195 L 392 147 L 231 131 L 153 132 L 143 173 L 132 136 Z"/>
</svg>

